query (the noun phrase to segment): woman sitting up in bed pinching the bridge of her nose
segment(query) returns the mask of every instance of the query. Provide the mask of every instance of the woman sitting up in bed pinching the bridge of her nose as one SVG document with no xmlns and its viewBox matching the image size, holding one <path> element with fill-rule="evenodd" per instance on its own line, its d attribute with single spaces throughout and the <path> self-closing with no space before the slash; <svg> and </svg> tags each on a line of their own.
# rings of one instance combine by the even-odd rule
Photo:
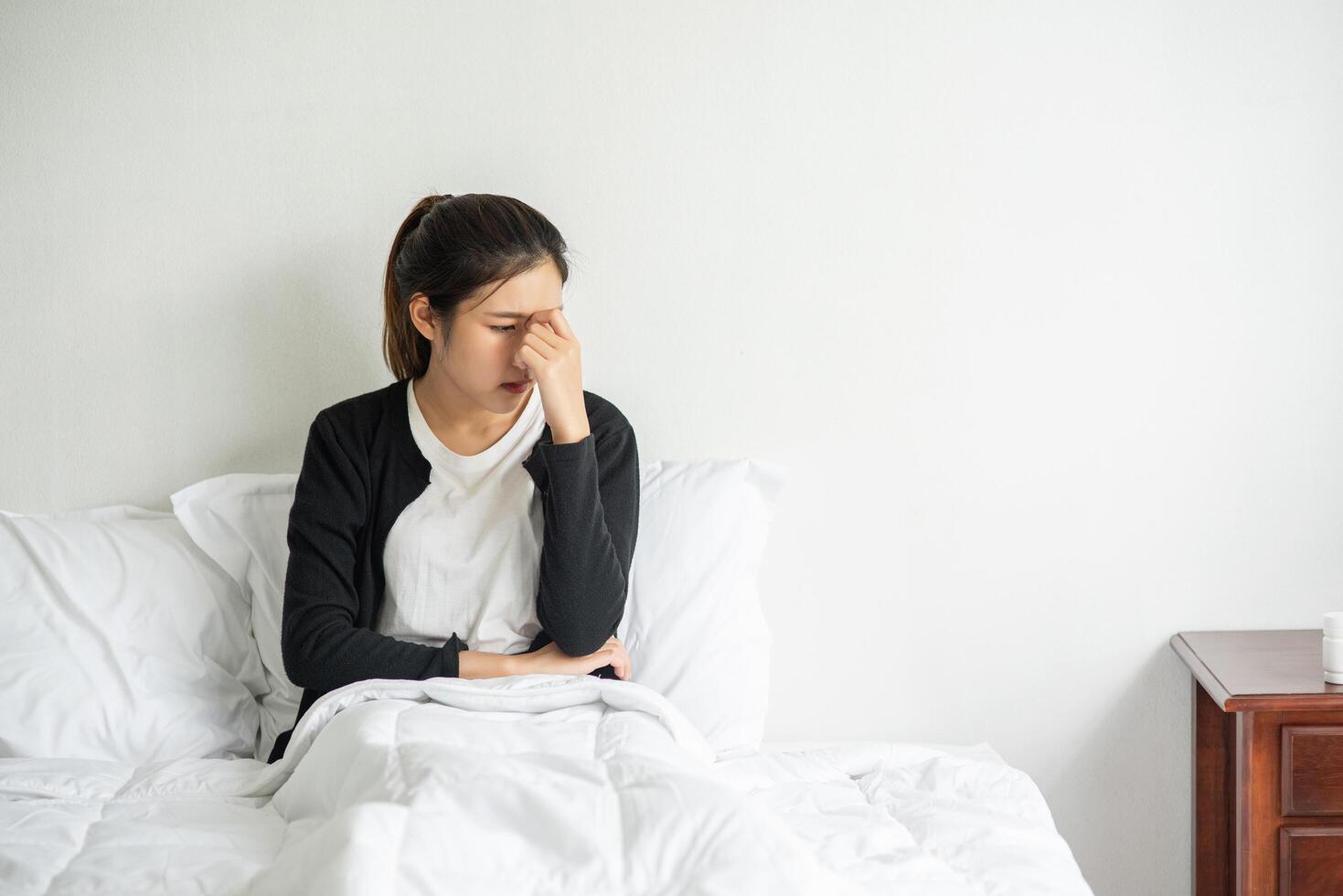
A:
<svg viewBox="0 0 1343 896">
<path fill-rule="evenodd" d="M 583 388 L 565 253 L 508 196 L 427 196 L 402 223 L 384 281 L 396 382 L 317 414 L 289 516 L 299 719 L 367 678 L 630 677 L 615 630 L 638 447 Z"/>
</svg>

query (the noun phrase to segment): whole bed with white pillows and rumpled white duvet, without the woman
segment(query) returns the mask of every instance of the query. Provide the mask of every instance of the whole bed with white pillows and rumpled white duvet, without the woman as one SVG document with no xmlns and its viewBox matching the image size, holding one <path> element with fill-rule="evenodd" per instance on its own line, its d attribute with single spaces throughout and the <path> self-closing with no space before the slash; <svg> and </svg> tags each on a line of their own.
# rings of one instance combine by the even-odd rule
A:
<svg viewBox="0 0 1343 896">
<path fill-rule="evenodd" d="M 0 892 L 1092 892 L 988 744 L 761 740 L 761 461 L 643 465 L 633 680 L 359 681 L 258 760 L 294 478 L 0 512 Z"/>
</svg>

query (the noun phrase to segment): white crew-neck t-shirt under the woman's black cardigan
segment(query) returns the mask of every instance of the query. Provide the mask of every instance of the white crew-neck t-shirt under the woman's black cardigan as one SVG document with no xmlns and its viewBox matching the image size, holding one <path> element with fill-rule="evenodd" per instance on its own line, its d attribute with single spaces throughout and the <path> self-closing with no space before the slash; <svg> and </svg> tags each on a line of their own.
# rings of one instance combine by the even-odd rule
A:
<svg viewBox="0 0 1343 896">
<path fill-rule="evenodd" d="M 545 519 L 522 467 L 541 438 L 541 390 L 504 437 L 479 454 L 438 441 L 407 382 L 415 443 L 430 482 L 387 533 L 387 576 L 376 631 L 441 647 L 455 631 L 471 650 L 522 653 L 541 630 L 536 617 Z"/>
</svg>

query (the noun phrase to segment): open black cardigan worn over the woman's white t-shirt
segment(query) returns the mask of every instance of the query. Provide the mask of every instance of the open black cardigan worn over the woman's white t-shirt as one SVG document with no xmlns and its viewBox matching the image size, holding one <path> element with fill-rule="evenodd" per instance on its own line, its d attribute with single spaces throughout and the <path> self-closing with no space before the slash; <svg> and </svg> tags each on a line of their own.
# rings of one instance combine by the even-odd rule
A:
<svg viewBox="0 0 1343 896">
<path fill-rule="evenodd" d="M 459 674 L 466 643 L 442 647 L 373 630 L 385 578 L 383 545 L 392 523 L 428 486 L 430 462 L 411 434 L 407 380 L 338 402 L 308 430 L 289 514 L 289 567 L 281 654 L 304 689 L 298 719 L 318 697 L 367 678 Z M 540 388 L 533 386 L 533 388 Z M 555 641 L 569 656 L 598 650 L 624 615 L 639 523 L 639 454 L 634 430 L 604 398 L 583 391 L 591 430 L 556 445 L 547 423 L 522 467 L 544 506 L 536 595 L 541 631 L 525 653 Z M 614 678 L 607 665 L 592 674 Z M 293 728 L 269 763 L 285 755 Z"/>
</svg>

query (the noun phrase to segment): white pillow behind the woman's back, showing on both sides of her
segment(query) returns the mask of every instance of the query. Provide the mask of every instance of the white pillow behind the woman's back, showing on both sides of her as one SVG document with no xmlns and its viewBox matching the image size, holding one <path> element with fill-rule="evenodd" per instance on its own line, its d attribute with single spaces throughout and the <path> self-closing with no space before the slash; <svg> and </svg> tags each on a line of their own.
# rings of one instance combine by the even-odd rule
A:
<svg viewBox="0 0 1343 896">
<path fill-rule="evenodd" d="M 641 465 L 639 532 L 616 635 L 634 681 L 677 705 L 720 756 L 753 751 L 764 732 L 771 635 L 756 586 L 787 467 L 770 461 Z M 279 652 L 289 510 L 297 473 L 231 473 L 172 496 L 200 548 L 248 594 L 270 692 L 257 755 L 294 724 L 302 689 Z"/>
</svg>

